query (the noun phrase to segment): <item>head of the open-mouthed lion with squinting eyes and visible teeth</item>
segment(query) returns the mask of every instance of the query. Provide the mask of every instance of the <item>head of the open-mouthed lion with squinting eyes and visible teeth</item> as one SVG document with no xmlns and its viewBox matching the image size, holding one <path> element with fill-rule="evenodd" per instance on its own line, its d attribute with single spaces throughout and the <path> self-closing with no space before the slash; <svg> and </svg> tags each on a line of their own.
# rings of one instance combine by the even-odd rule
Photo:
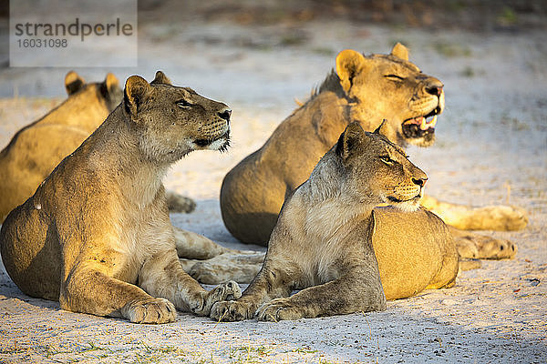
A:
<svg viewBox="0 0 547 364">
<path fill-rule="evenodd" d="M 389 55 L 342 51 L 336 56 L 336 74 L 352 121 L 373 130 L 386 118 L 386 135 L 400 146 L 429 147 L 435 142 L 437 116 L 444 109 L 443 84 L 408 62 L 405 45 L 397 43 Z"/>
</svg>

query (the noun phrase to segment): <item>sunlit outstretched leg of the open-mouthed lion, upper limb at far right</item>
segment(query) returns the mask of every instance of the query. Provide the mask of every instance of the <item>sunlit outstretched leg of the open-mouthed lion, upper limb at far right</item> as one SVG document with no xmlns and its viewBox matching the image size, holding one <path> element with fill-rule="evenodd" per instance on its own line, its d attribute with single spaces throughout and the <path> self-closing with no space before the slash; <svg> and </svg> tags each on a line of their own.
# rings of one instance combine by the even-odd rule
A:
<svg viewBox="0 0 547 364">
<path fill-rule="evenodd" d="M 425 196 L 421 204 L 442 220 L 462 230 L 520 230 L 528 224 L 526 212 L 520 207 L 488 206 L 469 207 L 441 202 Z"/>
</svg>

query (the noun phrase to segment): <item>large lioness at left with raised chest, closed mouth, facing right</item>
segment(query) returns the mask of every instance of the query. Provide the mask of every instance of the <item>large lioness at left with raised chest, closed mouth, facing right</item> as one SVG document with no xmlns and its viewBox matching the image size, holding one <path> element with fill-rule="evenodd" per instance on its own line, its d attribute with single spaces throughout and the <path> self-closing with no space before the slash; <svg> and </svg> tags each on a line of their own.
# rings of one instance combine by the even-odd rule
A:
<svg viewBox="0 0 547 364">
<path fill-rule="evenodd" d="M 182 270 L 161 183 L 192 150 L 226 149 L 230 116 L 161 72 L 151 84 L 129 77 L 123 102 L 5 219 L 0 251 L 15 284 L 67 310 L 142 323 L 238 298 L 235 282 L 207 292 Z"/>
</svg>

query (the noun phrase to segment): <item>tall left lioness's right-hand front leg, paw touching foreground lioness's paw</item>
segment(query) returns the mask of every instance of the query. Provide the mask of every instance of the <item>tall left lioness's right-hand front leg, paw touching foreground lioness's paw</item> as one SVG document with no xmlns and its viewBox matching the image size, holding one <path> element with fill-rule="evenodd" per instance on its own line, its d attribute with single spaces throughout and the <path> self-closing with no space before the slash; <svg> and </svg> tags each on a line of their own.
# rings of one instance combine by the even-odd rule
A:
<svg viewBox="0 0 547 364">
<path fill-rule="evenodd" d="M 145 261 L 139 272 L 139 287 L 150 295 L 167 298 L 181 311 L 208 316 L 215 302 L 240 298 L 242 293 L 233 281 L 206 291 L 181 267 L 174 249 L 160 252 Z"/>
</svg>

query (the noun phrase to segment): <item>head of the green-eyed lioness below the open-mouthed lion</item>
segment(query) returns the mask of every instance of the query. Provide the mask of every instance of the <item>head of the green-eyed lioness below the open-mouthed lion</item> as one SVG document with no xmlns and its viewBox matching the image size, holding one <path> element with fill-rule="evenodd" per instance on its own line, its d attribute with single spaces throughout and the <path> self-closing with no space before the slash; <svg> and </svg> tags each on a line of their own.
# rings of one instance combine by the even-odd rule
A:
<svg viewBox="0 0 547 364">
<path fill-rule="evenodd" d="M 354 122 L 340 136 L 335 152 L 346 169 L 346 186 L 355 188 L 362 202 L 416 210 L 428 176 L 408 160 L 403 149 L 380 134 L 384 126 L 369 133 Z"/>
</svg>

